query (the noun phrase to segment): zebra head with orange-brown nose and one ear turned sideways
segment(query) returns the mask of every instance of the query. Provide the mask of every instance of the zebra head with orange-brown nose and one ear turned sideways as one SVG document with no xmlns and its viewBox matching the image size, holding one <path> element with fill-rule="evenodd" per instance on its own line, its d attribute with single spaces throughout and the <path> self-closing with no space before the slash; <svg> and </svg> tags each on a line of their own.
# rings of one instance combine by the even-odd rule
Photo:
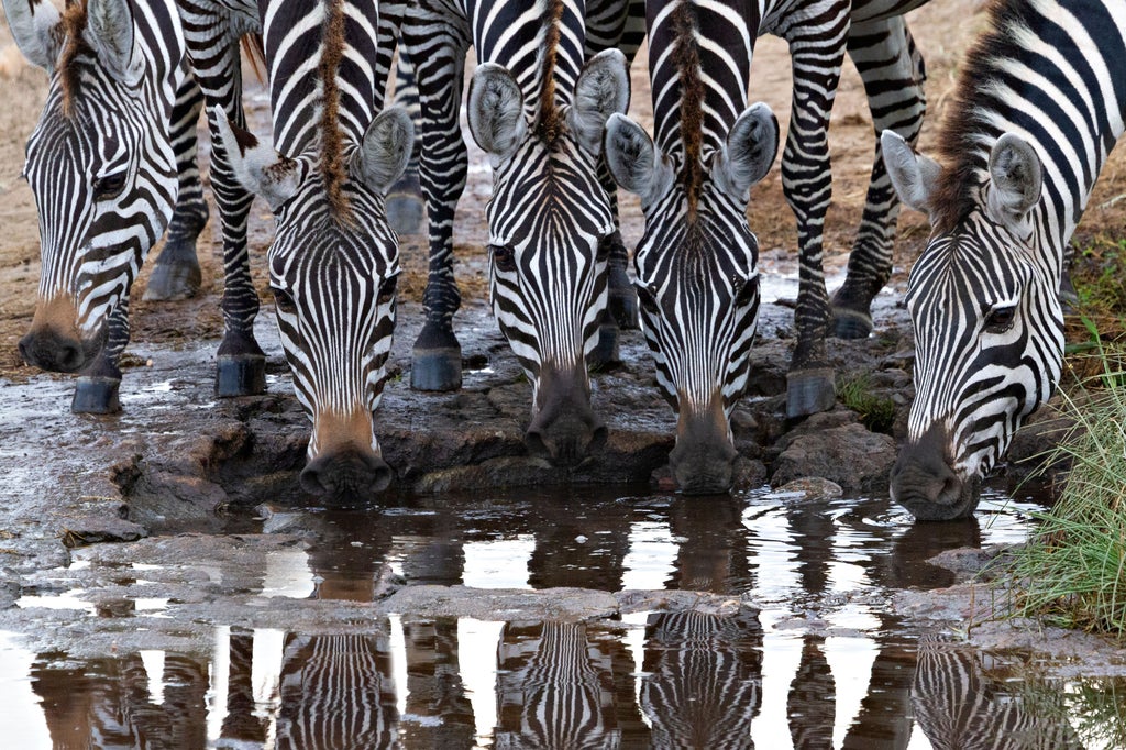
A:
<svg viewBox="0 0 1126 750">
<path fill-rule="evenodd" d="M 401 108 L 377 115 L 361 143 L 346 143 L 333 186 L 304 152 L 279 154 L 215 108 L 240 181 L 277 221 L 268 252 L 278 330 L 294 391 L 313 421 L 302 486 L 336 499 L 386 489 L 392 472 L 373 414 L 395 327 L 399 241 L 384 194 L 406 167 L 414 126 Z"/>
</svg>

